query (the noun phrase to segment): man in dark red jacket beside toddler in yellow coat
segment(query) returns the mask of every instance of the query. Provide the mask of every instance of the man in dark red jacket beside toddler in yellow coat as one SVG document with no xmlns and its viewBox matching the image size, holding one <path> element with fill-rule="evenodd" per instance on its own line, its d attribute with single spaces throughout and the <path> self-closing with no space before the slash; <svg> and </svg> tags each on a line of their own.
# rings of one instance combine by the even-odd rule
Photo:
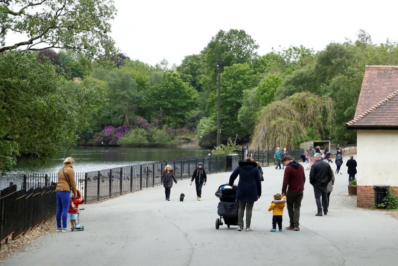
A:
<svg viewBox="0 0 398 266">
<path fill-rule="evenodd" d="M 286 204 L 290 218 L 290 226 L 286 229 L 299 231 L 300 207 L 304 195 L 305 174 L 304 167 L 294 161 L 290 155 L 282 157 L 282 163 L 286 166 L 283 177 L 282 196 L 286 195 Z"/>
</svg>

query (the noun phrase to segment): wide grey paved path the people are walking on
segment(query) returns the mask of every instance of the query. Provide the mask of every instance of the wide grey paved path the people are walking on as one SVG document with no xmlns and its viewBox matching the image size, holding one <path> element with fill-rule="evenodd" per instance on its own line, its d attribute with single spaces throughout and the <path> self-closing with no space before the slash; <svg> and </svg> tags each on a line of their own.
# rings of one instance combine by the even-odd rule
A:
<svg viewBox="0 0 398 266">
<path fill-rule="evenodd" d="M 342 168 L 329 213 L 322 217 L 315 217 L 313 189 L 305 172 L 298 232 L 269 232 L 272 213 L 267 210 L 272 195 L 281 190 L 283 170 L 263 167 L 263 196 L 254 205 L 254 232 L 237 232 L 235 226 L 225 225 L 215 229 L 214 192 L 230 175 L 219 173 L 208 176 L 202 201 L 196 200 L 195 186 L 182 180 L 173 186 L 171 201 L 164 200 L 164 189 L 158 186 L 87 204 L 81 214 L 85 231 L 46 236 L 3 265 L 397 265 L 398 220 L 384 211 L 356 208 L 356 198 L 347 194 L 346 167 Z M 184 202 L 178 199 L 181 192 L 186 195 Z M 283 216 L 287 226 L 286 208 Z"/>
</svg>

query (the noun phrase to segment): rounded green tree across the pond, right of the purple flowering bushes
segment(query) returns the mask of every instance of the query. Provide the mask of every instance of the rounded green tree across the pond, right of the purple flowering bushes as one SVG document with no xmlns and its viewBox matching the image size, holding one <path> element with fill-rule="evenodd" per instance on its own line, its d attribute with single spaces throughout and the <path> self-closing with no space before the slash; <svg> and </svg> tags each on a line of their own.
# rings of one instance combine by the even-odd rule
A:
<svg viewBox="0 0 398 266">
<path fill-rule="evenodd" d="M 178 127 L 195 110 L 198 93 L 183 82 L 178 73 L 169 70 L 164 73 L 163 81 L 151 88 L 149 98 L 153 103 L 153 111 L 161 114 L 160 118 L 165 124 Z"/>
</svg>

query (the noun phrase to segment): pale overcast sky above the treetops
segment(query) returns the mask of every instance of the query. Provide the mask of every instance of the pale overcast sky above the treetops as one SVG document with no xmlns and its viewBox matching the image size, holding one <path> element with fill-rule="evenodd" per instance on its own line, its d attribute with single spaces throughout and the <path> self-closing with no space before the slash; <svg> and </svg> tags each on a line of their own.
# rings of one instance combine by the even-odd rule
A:
<svg viewBox="0 0 398 266">
<path fill-rule="evenodd" d="M 330 42 L 356 39 L 359 29 L 373 43 L 398 41 L 398 1 L 351 0 L 114 0 L 112 37 L 131 59 L 181 64 L 198 54 L 222 29 L 243 29 L 264 55 L 300 44 L 322 50 Z"/>
</svg>

